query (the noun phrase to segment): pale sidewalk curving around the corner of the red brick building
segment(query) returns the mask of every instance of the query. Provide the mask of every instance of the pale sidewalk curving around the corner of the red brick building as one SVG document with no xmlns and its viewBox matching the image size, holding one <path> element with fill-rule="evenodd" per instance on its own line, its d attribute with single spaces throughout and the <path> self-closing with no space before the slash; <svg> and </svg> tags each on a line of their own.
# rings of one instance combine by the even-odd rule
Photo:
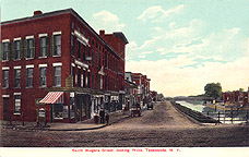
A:
<svg viewBox="0 0 249 157">
<path fill-rule="evenodd" d="M 130 111 L 122 112 L 116 111 L 109 113 L 109 124 L 95 124 L 93 119 L 85 120 L 79 123 L 47 123 L 46 128 L 37 128 L 35 126 L 35 122 L 24 122 L 24 125 L 20 121 L 13 121 L 12 125 L 9 121 L 0 121 L 1 128 L 13 129 L 13 130 L 43 130 L 43 131 L 84 131 L 84 130 L 96 130 L 102 129 L 107 125 L 111 125 L 117 123 L 123 119 L 130 117 Z"/>
</svg>

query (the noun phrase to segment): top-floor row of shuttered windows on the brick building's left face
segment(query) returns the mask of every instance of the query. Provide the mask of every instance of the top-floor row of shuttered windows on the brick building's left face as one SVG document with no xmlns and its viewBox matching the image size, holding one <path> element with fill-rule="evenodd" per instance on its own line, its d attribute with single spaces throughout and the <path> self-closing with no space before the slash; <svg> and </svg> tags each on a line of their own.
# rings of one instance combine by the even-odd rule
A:
<svg viewBox="0 0 249 157">
<path fill-rule="evenodd" d="M 51 36 L 51 56 L 61 56 L 61 35 Z M 1 57 L 2 61 L 34 59 L 35 58 L 35 38 L 34 36 L 26 37 L 26 39 L 14 39 L 13 43 L 5 40 L 1 44 Z M 45 58 L 48 56 L 48 36 L 39 37 L 39 58 Z"/>
</svg>

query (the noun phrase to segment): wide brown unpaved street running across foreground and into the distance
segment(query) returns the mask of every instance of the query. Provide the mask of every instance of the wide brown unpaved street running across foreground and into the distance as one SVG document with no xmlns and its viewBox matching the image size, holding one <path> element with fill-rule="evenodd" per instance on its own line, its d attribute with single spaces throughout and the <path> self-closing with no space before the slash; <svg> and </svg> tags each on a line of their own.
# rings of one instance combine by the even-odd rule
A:
<svg viewBox="0 0 249 157">
<path fill-rule="evenodd" d="M 15 147 L 220 147 L 249 146 L 245 125 L 201 125 L 179 113 L 169 102 L 158 102 L 142 117 L 94 131 L 2 130 L 1 146 Z"/>
</svg>

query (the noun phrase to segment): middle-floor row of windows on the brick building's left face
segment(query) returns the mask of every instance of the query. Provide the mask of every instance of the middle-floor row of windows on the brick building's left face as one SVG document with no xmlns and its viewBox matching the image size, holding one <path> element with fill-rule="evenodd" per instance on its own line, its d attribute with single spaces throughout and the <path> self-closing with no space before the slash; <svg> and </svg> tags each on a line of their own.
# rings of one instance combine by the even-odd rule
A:
<svg viewBox="0 0 249 157">
<path fill-rule="evenodd" d="M 33 87 L 33 71 L 34 68 L 26 69 L 26 87 Z M 9 87 L 9 70 L 2 70 L 2 78 L 3 78 L 3 88 Z M 39 86 L 47 86 L 47 68 L 39 68 Z M 54 86 L 61 86 L 61 67 L 54 67 Z M 14 69 L 14 87 L 21 88 L 21 69 Z"/>
</svg>

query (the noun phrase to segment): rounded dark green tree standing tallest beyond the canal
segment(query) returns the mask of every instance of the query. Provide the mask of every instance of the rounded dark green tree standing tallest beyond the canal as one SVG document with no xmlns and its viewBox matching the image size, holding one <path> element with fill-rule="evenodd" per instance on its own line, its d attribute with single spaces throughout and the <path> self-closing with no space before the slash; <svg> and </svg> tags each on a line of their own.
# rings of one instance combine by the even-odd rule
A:
<svg viewBox="0 0 249 157">
<path fill-rule="evenodd" d="M 222 97 L 222 85 L 221 83 L 209 83 L 204 87 L 205 96 L 212 98 L 221 98 Z"/>
</svg>

